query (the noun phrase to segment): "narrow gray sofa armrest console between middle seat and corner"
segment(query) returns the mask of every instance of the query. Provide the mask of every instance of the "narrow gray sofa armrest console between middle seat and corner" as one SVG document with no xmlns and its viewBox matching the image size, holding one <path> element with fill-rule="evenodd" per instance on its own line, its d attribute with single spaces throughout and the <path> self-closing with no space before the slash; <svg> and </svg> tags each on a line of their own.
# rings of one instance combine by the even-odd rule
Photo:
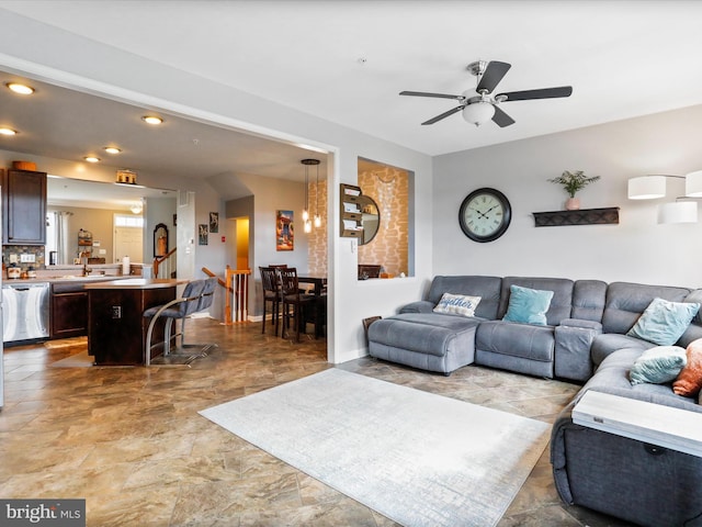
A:
<svg viewBox="0 0 702 527">
<path fill-rule="evenodd" d="M 556 326 L 554 335 L 554 373 L 563 379 L 587 381 L 592 377 L 590 346 L 602 333 L 602 324 L 595 321 L 566 318 Z"/>
</svg>

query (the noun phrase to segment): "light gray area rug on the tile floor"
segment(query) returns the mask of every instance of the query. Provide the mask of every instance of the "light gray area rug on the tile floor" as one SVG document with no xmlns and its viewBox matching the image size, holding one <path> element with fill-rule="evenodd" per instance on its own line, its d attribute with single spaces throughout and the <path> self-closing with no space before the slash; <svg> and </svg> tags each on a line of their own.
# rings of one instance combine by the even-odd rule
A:
<svg viewBox="0 0 702 527">
<path fill-rule="evenodd" d="M 404 526 L 495 525 L 548 425 L 343 370 L 200 412 Z"/>
</svg>

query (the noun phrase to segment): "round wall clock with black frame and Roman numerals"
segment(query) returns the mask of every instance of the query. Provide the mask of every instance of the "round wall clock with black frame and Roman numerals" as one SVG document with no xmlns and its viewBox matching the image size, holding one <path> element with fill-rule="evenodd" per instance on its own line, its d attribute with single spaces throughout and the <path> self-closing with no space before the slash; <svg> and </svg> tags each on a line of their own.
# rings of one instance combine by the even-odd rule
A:
<svg viewBox="0 0 702 527">
<path fill-rule="evenodd" d="M 477 189 L 471 192 L 458 211 L 463 233 L 475 242 L 492 242 L 505 234 L 512 220 L 512 206 L 499 190 Z"/>
</svg>

